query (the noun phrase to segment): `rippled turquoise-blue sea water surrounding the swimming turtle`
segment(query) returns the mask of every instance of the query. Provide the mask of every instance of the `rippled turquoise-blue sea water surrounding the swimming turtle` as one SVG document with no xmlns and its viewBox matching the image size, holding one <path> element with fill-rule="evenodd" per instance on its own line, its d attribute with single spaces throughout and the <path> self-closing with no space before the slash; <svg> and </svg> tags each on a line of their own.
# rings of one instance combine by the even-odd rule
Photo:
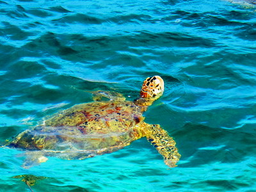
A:
<svg viewBox="0 0 256 192">
<path fill-rule="evenodd" d="M 132 100 L 165 81 L 145 113 L 175 138 L 168 168 L 143 138 L 91 159 L 28 170 L 0 148 L 0 191 L 256 191 L 255 6 L 220 0 L 0 1 L 0 141 L 95 90 Z"/>
</svg>

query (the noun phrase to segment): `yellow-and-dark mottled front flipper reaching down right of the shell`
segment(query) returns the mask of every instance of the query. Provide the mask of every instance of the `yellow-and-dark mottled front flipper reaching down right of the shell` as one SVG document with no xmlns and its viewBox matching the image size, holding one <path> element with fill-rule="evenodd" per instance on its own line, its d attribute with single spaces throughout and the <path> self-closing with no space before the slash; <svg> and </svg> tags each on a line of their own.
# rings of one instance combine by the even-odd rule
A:
<svg viewBox="0 0 256 192">
<path fill-rule="evenodd" d="M 175 147 L 176 143 L 168 132 L 164 131 L 160 125 L 148 126 L 149 134 L 147 140 L 154 145 L 159 154 L 164 157 L 164 163 L 170 167 L 177 166 L 176 163 L 180 159 L 178 148 Z"/>
</svg>

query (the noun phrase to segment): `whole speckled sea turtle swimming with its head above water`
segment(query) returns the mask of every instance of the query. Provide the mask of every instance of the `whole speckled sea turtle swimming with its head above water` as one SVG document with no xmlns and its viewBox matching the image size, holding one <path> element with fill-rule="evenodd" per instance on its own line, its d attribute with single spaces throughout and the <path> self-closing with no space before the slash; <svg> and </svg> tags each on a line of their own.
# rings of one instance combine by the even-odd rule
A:
<svg viewBox="0 0 256 192">
<path fill-rule="evenodd" d="M 53 115 L 18 134 L 7 146 L 26 150 L 23 166 L 29 168 L 47 161 L 47 156 L 85 159 L 147 137 L 164 157 L 164 163 L 175 167 L 180 158 L 175 141 L 160 125 L 145 123 L 142 116 L 163 91 L 163 79 L 154 76 L 145 79 L 140 97 L 134 101 L 125 100 L 120 93 L 94 92 L 94 102 L 77 104 Z"/>
</svg>

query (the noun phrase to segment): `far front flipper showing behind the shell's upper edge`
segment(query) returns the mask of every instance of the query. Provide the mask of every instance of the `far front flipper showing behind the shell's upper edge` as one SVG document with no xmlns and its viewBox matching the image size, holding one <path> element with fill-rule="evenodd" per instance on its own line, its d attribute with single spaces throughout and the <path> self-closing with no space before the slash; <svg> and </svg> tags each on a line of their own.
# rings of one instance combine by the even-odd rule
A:
<svg viewBox="0 0 256 192">
<path fill-rule="evenodd" d="M 95 101 L 101 100 L 102 97 L 105 97 L 110 100 L 118 100 L 118 101 L 125 100 L 125 97 L 121 93 L 104 92 L 104 91 L 97 91 L 97 92 L 92 92 L 92 93 L 93 93 L 93 100 L 95 100 Z"/>
</svg>

